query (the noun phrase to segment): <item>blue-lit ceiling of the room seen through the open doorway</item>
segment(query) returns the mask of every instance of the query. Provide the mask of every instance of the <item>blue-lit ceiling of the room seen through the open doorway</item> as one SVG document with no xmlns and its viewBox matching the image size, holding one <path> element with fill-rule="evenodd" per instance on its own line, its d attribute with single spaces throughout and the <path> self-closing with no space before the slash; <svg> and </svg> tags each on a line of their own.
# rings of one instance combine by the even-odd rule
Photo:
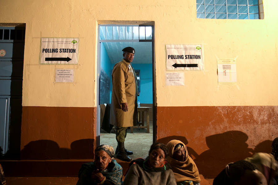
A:
<svg viewBox="0 0 278 185">
<path fill-rule="evenodd" d="M 151 64 L 151 40 L 151 26 L 102 25 L 99 27 L 99 41 L 103 43 L 112 64 L 116 64 L 123 58 L 122 49 L 125 47 L 135 49 L 133 64 Z"/>
</svg>

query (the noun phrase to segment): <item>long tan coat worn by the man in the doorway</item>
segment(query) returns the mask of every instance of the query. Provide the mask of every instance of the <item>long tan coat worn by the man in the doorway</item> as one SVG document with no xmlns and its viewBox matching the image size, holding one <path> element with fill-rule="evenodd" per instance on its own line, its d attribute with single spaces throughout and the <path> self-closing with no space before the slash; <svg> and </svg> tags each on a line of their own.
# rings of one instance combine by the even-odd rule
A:
<svg viewBox="0 0 278 185">
<path fill-rule="evenodd" d="M 112 97 L 110 124 L 118 127 L 136 125 L 137 116 L 137 81 L 131 64 L 122 59 L 112 70 Z M 128 103 L 124 112 L 121 103 Z"/>
</svg>

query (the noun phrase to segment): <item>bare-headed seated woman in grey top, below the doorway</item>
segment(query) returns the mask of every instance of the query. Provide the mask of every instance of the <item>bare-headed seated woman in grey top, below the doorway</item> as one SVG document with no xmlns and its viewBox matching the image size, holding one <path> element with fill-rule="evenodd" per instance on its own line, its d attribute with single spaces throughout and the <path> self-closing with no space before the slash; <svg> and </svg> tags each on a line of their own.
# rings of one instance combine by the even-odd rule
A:
<svg viewBox="0 0 278 185">
<path fill-rule="evenodd" d="M 152 144 L 149 156 L 145 160 L 138 158 L 130 162 L 124 185 L 176 184 L 171 166 L 165 161 L 167 155 L 168 149 L 164 144 Z"/>
</svg>

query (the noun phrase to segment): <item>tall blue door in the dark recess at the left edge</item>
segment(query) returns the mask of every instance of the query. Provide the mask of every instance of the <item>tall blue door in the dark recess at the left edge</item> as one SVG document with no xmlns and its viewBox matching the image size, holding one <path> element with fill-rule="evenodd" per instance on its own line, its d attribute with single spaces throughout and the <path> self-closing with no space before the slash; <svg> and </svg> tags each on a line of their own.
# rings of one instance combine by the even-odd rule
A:
<svg viewBox="0 0 278 185">
<path fill-rule="evenodd" d="M 19 158 L 25 27 L 0 27 L 0 154 Z"/>
</svg>

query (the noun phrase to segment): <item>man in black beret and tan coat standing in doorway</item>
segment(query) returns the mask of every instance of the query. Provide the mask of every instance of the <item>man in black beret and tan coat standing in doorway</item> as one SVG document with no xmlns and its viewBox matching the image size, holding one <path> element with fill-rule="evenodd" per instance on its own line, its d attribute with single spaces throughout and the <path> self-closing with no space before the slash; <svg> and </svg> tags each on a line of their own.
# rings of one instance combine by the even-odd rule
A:
<svg viewBox="0 0 278 185">
<path fill-rule="evenodd" d="M 116 126 L 116 157 L 131 161 L 128 155 L 133 152 L 124 148 L 124 141 L 127 128 L 136 125 L 137 121 L 137 79 L 131 66 L 135 50 L 133 47 L 125 47 L 122 51 L 124 58 L 112 70 L 110 124 Z"/>
</svg>

